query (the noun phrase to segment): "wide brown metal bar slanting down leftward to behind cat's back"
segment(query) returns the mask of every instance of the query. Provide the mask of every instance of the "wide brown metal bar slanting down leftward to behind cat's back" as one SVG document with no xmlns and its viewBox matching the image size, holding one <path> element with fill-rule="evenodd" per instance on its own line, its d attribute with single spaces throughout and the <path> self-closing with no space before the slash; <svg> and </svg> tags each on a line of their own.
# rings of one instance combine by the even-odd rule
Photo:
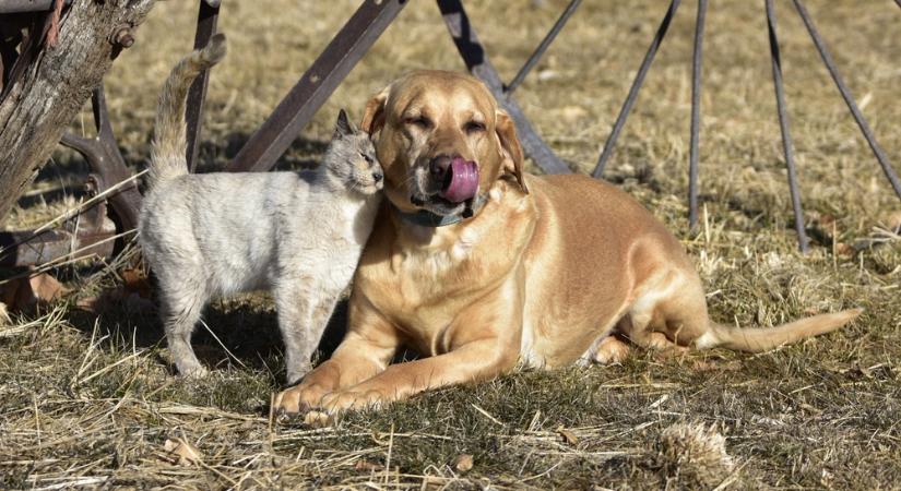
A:
<svg viewBox="0 0 901 491">
<path fill-rule="evenodd" d="M 238 152 L 227 170 L 271 169 L 300 129 L 407 3 L 406 0 L 366 0 Z"/>
</svg>

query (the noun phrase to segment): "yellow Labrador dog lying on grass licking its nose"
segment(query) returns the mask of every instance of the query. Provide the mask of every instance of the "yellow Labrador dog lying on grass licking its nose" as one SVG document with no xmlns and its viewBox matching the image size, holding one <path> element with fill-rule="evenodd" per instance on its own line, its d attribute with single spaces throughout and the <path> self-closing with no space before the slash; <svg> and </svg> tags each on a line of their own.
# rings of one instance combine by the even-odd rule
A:
<svg viewBox="0 0 901 491">
<path fill-rule="evenodd" d="M 761 351 L 835 330 L 846 310 L 774 328 L 708 319 L 681 244 L 584 176 L 531 176 L 512 120 L 476 79 L 417 71 L 366 106 L 387 201 L 360 259 L 348 332 L 275 399 L 335 414 L 527 367 L 647 348 Z M 423 358 L 389 366 L 412 347 Z"/>
</svg>

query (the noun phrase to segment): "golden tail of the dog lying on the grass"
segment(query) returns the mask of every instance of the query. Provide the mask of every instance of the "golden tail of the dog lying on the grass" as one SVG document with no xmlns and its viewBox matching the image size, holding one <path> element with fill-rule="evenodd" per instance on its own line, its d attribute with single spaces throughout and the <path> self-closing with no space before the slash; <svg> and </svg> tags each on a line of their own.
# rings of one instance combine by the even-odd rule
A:
<svg viewBox="0 0 901 491">
<path fill-rule="evenodd" d="M 697 340 L 699 348 L 721 346 L 736 351 L 760 352 L 805 337 L 829 333 L 847 324 L 863 309 L 814 315 L 772 328 L 739 328 L 710 322 L 710 331 Z"/>
</svg>

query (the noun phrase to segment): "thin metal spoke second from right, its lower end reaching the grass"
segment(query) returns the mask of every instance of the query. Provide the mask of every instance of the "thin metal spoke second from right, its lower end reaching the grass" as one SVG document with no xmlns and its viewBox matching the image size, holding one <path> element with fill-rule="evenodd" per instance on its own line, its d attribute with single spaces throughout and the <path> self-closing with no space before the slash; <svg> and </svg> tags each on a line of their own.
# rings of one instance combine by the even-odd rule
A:
<svg viewBox="0 0 901 491">
<path fill-rule="evenodd" d="M 775 31 L 775 11 L 773 0 L 766 0 L 767 29 L 770 38 L 770 58 L 773 67 L 773 87 L 775 88 L 775 105 L 779 112 L 779 128 L 782 131 L 782 151 L 785 154 L 785 167 L 789 170 L 789 192 L 792 196 L 792 209 L 795 214 L 795 231 L 801 252 L 807 253 L 808 239 L 804 230 L 804 212 L 801 209 L 801 191 L 797 188 L 795 159 L 792 152 L 792 133 L 789 131 L 789 115 L 785 111 L 785 93 L 782 88 L 782 60 L 779 56 L 779 37 Z"/>
</svg>

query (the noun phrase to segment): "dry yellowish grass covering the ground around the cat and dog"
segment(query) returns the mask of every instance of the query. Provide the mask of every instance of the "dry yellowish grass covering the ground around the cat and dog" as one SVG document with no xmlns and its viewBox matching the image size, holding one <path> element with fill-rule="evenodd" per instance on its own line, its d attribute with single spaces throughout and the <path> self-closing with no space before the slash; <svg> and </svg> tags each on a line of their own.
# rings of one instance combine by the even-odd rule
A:
<svg viewBox="0 0 901 491">
<path fill-rule="evenodd" d="M 509 79 L 564 3 L 466 7 Z M 573 169 L 592 168 L 667 3 L 585 2 L 518 91 Z M 901 11 L 891 2 L 808 3 L 899 169 L 901 47 L 885 33 L 897 32 Z M 235 155 L 357 2 L 259 4 L 223 9 L 230 52 L 210 83 L 206 169 Z M 849 327 L 756 356 L 638 351 L 619 366 L 520 372 L 310 430 L 268 420 L 270 394 L 283 382 L 269 298 L 210 307 L 206 324 L 228 352 L 200 327 L 195 349 L 215 370 L 191 382 L 173 375 L 146 301 L 131 297 L 100 314 L 78 308 L 117 284 L 115 267 L 81 264 L 56 272 L 75 294 L 0 326 L 0 488 L 897 489 L 901 240 L 888 228 L 901 205 L 791 5 L 778 8 L 810 254 L 797 253 L 790 228 L 758 2 L 715 2 L 708 15 L 700 231 L 688 233 L 685 218 L 691 2 L 673 21 L 606 177 L 683 240 L 715 320 L 770 326 L 865 308 Z M 147 157 L 159 85 L 191 45 L 193 9 L 161 2 L 106 79 L 119 143 L 135 168 Z M 463 69 L 435 5 L 411 2 L 281 165 L 316 160 L 339 107 L 359 117 L 370 94 L 422 67 Z M 88 111 L 74 123 L 82 127 Z M 8 227 L 38 226 L 76 203 L 84 163 L 66 151 L 54 159 Z M 325 351 L 343 319 L 339 311 Z M 164 446 L 175 439 L 195 445 L 202 463 L 173 464 Z M 462 455 L 472 469 L 458 469 Z"/>
</svg>

